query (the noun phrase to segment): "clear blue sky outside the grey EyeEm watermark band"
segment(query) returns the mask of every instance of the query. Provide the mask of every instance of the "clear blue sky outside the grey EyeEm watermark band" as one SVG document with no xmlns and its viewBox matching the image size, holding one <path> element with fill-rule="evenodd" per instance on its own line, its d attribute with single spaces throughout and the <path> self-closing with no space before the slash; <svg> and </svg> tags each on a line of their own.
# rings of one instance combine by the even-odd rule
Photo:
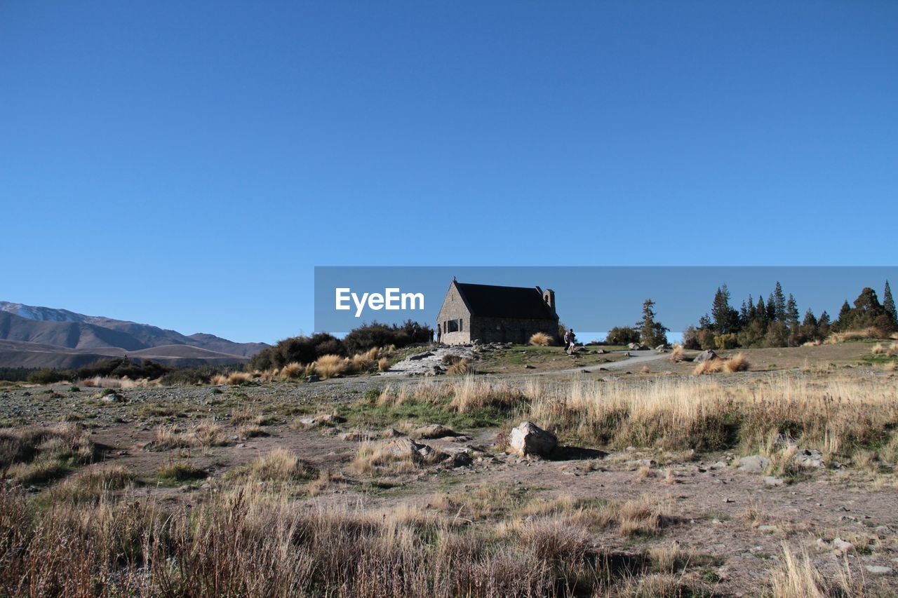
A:
<svg viewBox="0 0 898 598">
<path fill-rule="evenodd" d="M 0 82 L 0 300 L 272 341 L 315 265 L 894 263 L 892 0 L 4 1 Z"/>
</svg>

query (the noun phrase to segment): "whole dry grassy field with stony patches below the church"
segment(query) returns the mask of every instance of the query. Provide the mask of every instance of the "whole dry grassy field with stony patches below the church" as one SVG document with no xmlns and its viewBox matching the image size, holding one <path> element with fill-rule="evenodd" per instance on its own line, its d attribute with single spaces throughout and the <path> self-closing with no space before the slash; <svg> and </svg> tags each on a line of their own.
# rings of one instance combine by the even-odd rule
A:
<svg viewBox="0 0 898 598">
<path fill-rule="evenodd" d="M 551 374 L 574 359 L 512 347 L 482 365 L 513 374 L 8 385 L 0 594 L 894 595 L 898 385 L 874 347 L 732 374 Z M 506 453 L 523 420 L 559 451 Z"/>
</svg>

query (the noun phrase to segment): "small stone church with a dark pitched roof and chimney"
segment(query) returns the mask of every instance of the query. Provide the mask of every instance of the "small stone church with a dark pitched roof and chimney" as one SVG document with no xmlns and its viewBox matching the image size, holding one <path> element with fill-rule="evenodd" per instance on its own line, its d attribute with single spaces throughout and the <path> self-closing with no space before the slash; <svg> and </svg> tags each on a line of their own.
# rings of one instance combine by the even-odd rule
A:
<svg viewBox="0 0 898 598">
<path fill-rule="evenodd" d="M 555 292 L 539 286 L 471 285 L 454 278 L 436 317 L 446 345 L 480 342 L 526 344 L 535 332 L 558 339 Z"/>
</svg>

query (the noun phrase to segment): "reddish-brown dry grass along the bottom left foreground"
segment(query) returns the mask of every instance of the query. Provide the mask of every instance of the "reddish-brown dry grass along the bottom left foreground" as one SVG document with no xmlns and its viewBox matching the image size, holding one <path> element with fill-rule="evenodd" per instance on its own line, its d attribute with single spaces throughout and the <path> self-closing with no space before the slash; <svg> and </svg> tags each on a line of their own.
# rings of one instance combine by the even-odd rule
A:
<svg viewBox="0 0 898 598">
<path fill-rule="evenodd" d="M 293 488 L 268 486 L 247 480 L 192 508 L 122 498 L 47 510 L 0 487 L 0 594 L 499 598 L 629 587 L 585 523 L 564 517 L 499 530 L 418 506 L 310 508 L 290 500 Z"/>
</svg>

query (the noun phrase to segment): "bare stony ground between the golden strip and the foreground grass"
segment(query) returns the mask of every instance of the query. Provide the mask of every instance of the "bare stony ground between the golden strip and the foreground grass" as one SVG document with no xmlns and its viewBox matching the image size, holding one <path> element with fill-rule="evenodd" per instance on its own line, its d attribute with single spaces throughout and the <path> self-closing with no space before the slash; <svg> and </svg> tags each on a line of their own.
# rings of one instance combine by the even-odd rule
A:
<svg viewBox="0 0 898 598">
<path fill-rule="evenodd" d="M 756 458 L 733 453 L 612 451 L 602 446 L 568 446 L 550 458 L 522 458 L 497 449 L 505 444 L 506 427 L 428 432 L 420 427 L 446 422 L 409 418 L 392 424 L 371 421 L 373 425 L 366 426 L 351 416 L 346 421 L 329 415 L 351 412 L 357 401 L 370 400 L 401 375 L 432 371 L 448 352 L 465 356 L 466 351 L 470 349 L 438 349 L 433 355 L 401 362 L 391 375 L 321 383 L 134 388 L 106 396 L 100 396 L 99 389 L 75 390 L 69 385 L 13 386 L 0 391 L 0 419 L 13 428 L 59 422 L 86 427 L 101 448 L 102 461 L 136 474 L 140 481 L 131 491 L 138 496 L 198 502 L 216 492 L 229 471 L 286 448 L 315 470 L 332 474 L 332 481 L 316 492 L 296 496 L 310 505 L 428 508 L 441 494 L 497 487 L 547 501 L 569 497 L 625 502 L 647 497 L 664 507 L 660 530 L 647 535 L 599 531 L 594 533 L 594 545 L 620 558 L 639 558 L 658 547 L 691 554 L 695 558 L 691 575 L 700 576 L 715 595 L 766 592 L 770 568 L 784 544 L 808 550 L 814 564 L 830 576 L 838 576 L 847 564 L 868 594 L 898 592 L 898 492 L 889 471 L 872 476 L 840 464 L 827 467 L 808 454 L 799 475 L 778 479 L 765 476 L 764 463 Z M 571 374 L 555 375 L 561 381 Z M 188 449 L 154 446 L 161 428 L 186 431 L 203 422 L 221 427 L 220 442 Z M 248 423 L 254 428 L 251 434 L 246 431 Z M 387 478 L 349 468 L 366 442 L 404 435 L 426 444 L 428 452 L 451 458 Z M 429 437 L 433 435 L 439 437 Z M 180 459 L 203 470 L 204 478 L 161 482 L 159 468 Z M 34 496 L 45 488 L 40 483 L 29 485 Z M 478 514 L 458 516 L 471 525 L 481 524 Z"/>
</svg>

